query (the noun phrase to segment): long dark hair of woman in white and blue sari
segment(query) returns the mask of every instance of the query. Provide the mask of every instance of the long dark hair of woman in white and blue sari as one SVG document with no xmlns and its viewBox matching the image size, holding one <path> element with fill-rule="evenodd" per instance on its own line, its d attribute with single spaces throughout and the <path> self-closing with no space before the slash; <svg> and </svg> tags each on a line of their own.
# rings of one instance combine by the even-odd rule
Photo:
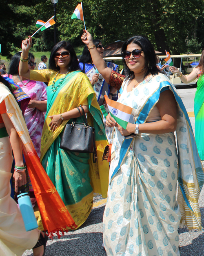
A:
<svg viewBox="0 0 204 256">
<path fill-rule="evenodd" d="M 145 36 L 133 36 L 124 42 L 124 44 L 122 45 L 121 52 L 126 51 L 127 46 L 131 43 L 139 45 L 142 48 L 142 51 L 144 52 L 145 66 L 144 66 L 143 70 L 146 69 L 144 78 L 146 78 L 146 76 L 149 73 L 151 73 L 152 75 L 160 73 L 160 70 L 157 69 L 157 58 L 156 58 L 156 54 L 154 51 L 154 47 L 151 44 L 151 42 L 149 41 L 149 39 L 147 39 Z M 126 65 L 125 60 L 123 60 L 123 62 L 124 62 L 124 66 L 125 66 L 126 79 L 135 78 L 134 72 L 131 71 L 129 69 L 129 67 Z"/>
</svg>

